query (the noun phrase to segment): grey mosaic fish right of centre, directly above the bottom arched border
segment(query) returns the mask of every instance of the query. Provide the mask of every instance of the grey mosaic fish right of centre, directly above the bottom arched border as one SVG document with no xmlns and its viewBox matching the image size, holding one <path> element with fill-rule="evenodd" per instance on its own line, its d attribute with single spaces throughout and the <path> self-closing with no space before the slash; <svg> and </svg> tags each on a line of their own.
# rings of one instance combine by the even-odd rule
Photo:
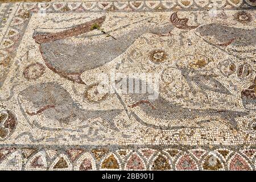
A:
<svg viewBox="0 0 256 182">
<path fill-rule="evenodd" d="M 135 79 L 136 80 L 136 79 Z M 137 80 L 141 85 L 145 85 L 143 80 Z M 147 90 L 154 90 L 151 86 L 147 86 Z M 205 118 L 205 119 L 221 119 L 226 125 L 237 129 L 237 120 L 238 117 L 244 117 L 249 114 L 247 111 L 234 111 L 227 109 L 192 109 L 186 108 L 182 105 L 179 105 L 175 102 L 171 102 L 159 96 L 155 100 L 149 100 L 148 96 L 151 94 L 147 93 L 133 93 L 129 94 L 129 97 L 133 104 L 127 105 L 127 108 L 130 107 L 130 113 L 137 119 L 137 121 L 145 126 L 151 126 L 155 129 L 175 129 L 176 126 L 172 126 L 171 122 L 174 120 L 184 121 L 185 119 L 193 120 L 196 118 Z M 122 94 L 120 94 L 119 100 L 122 100 Z M 122 102 L 122 101 L 121 101 Z M 157 124 L 148 123 L 145 119 L 140 118 L 138 113 L 136 113 L 133 108 L 139 107 L 144 114 L 151 118 L 163 119 L 163 123 L 170 123 L 170 126 L 161 125 L 161 122 Z M 205 120 L 203 119 L 203 120 Z M 199 125 L 200 126 L 200 122 Z"/>
</svg>

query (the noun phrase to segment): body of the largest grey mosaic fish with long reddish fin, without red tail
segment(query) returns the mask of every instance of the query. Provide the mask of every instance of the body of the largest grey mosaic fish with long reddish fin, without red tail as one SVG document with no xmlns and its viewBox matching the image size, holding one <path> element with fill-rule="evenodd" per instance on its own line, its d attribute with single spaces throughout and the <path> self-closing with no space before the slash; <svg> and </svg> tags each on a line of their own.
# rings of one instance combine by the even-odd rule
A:
<svg viewBox="0 0 256 182">
<path fill-rule="evenodd" d="M 41 55 L 47 67 L 68 80 L 85 84 L 80 77 L 83 72 L 101 67 L 114 60 L 141 35 L 147 32 L 168 34 L 173 28 L 171 23 L 166 23 L 163 26 L 154 23 L 154 25 L 149 26 L 147 24 L 140 27 L 134 26 L 132 30 L 117 35 L 114 39 L 113 36 L 106 36 L 102 33 L 98 35 L 100 36 L 99 40 L 86 42 L 85 37 L 85 41 L 79 44 L 70 40 L 93 31 L 93 27 L 100 29 L 105 20 L 106 16 L 102 16 L 56 33 L 34 32 L 33 38 L 39 44 Z"/>
</svg>

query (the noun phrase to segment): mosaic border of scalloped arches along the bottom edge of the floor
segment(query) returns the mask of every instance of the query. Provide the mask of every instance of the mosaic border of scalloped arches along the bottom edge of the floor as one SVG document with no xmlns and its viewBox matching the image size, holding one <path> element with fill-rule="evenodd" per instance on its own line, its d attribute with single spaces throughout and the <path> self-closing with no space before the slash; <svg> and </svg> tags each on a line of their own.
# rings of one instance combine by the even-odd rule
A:
<svg viewBox="0 0 256 182">
<path fill-rule="evenodd" d="M 256 148 L 240 147 L 1 147 L 0 170 L 255 170 Z"/>
</svg>

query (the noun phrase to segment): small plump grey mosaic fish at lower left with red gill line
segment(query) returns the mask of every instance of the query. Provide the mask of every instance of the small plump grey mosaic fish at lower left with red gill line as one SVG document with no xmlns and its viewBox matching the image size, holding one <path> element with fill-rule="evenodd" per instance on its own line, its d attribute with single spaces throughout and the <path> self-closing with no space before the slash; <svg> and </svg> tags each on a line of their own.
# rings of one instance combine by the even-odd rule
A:
<svg viewBox="0 0 256 182">
<path fill-rule="evenodd" d="M 86 110 L 82 109 L 71 97 L 71 94 L 57 82 L 39 83 L 22 90 L 19 97 L 32 104 L 35 110 L 26 109 L 26 114 L 33 116 L 40 113 L 48 119 L 55 119 L 60 123 L 71 123 L 79 119 L 88 121 L 90 119 L 102 118 L 108 125 L 115 128 L 113 119 L 117 117 L 122 109 L 109 110 Z M 24 104 L 26 105 L 26 104 Z"/>
</svg>

